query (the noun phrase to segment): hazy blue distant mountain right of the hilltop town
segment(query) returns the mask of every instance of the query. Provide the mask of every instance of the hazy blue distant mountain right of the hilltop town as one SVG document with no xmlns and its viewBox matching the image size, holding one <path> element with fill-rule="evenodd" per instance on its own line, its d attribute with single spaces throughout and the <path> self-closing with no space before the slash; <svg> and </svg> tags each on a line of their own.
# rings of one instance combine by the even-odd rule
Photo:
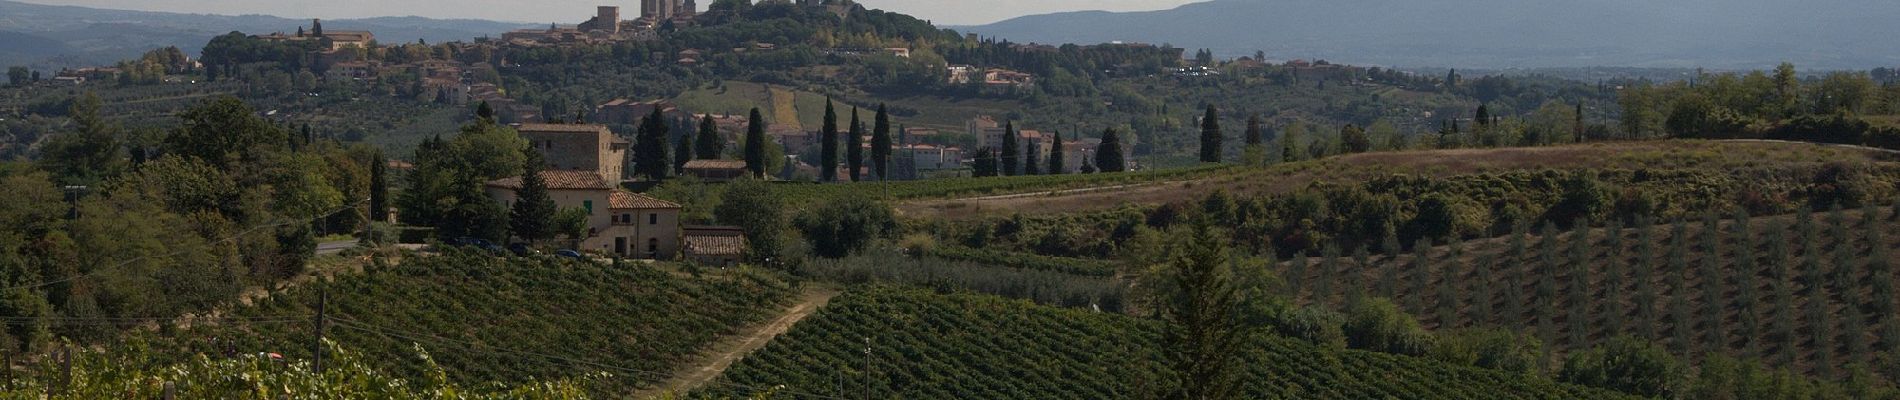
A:
<svg viewBox="0 0 1900 400">
<path fill-rule="evenodd" d="M 1387 66 L 1870 68 L 1900 64 L 1890 15 L 1900 2 L 1212 0 L 956 28 L 1011 42 L 1119 40 Z"/>
</svg>

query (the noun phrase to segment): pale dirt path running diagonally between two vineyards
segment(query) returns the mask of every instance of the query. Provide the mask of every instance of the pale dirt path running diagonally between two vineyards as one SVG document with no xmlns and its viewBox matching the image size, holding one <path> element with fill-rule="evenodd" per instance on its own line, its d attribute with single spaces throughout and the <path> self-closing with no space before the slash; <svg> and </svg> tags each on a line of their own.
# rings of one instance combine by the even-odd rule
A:
<svg viewBox="0 0 1900 400">
<path fill-rule="evenodd" d="M 711 347 L 707 347 L 707 351 L 701 351 L 701 355 L 694 362 L 676 370 L 674 375 L 667 379 L 667 383 L 635 392 L 633 398 L 659 398 L 667 392 L 682 394 L 716 379 L 733 362 L 737 362 L 745 355 L 752 355 L 752 351 L 766 347 L 766 343 L 771 343 L 771 337 L 779 337 L 787 330 L 792 330 L 792 326 L 798 324 L 798 320 L 811 317 L 811 313 L 823 309 L 825 303 L 830 303 L 830 300 L 836 296 L 838 288 L 826 288 L 826 286 L 806 288 L 804 294 L 798 296 L 798 303 L 785 309 L 785 313 L 781 313 L 777 318 L 764 324 L 749 326 L 739 336 L 730 336 L 720 339 L 718 343 L 712 343 Z"/>
</svg>

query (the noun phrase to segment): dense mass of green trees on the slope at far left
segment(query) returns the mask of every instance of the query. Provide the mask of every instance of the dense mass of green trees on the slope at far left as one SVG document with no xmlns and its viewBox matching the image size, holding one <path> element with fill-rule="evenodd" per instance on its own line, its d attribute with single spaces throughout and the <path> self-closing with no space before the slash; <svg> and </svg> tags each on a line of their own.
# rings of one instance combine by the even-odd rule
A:
<svg viewBox="0 0 1900 400">
<path fill-rule="evenodd" d="M 122 326 L 68 318 L 182 315 L 304 273 L 319 235 L 382 218 L 382 157 L 314 140 L 220 97 L 179 114 L 160 142 L 97 116 L 82 97 L 72 131 L 32 161 L 0 165 L 4 345 Z"/>
</svg>

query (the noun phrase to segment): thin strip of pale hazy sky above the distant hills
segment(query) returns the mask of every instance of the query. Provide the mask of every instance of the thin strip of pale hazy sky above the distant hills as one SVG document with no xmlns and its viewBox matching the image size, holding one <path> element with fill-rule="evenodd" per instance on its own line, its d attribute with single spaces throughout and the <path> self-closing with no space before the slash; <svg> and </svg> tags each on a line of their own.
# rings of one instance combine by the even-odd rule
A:
<svg viewBox="0 0 1900 400">
<path fill-rule="evenodd" d="M 34 4 L 87 6 L 179 13 L 266 13 L 277 17 L 391 17 L 494 19 L 519 23 L 580 23 L 595 6 L 638 9 L 638 0 L 25 0 Z M 937 25 L 982 25 L 1018 15 L 1077 9 L 1167 9 L 1197 0 L 859 0 L 864 8 L 891 9 Z M 699 8 L 712 4 L 699 0 Z M 627 11 L 621 11 L 625 15 Z"/>
</svg>

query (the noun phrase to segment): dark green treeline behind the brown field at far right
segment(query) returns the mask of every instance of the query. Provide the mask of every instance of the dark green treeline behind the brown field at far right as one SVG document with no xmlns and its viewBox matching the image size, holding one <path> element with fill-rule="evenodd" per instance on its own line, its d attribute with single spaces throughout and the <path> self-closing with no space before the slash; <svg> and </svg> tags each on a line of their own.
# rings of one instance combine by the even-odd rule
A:
<svg viewBox="0 0 1900 400">
<path fill-rule="evenodd" d="M 1638 138 L 1782 138 L 1900 148 L 1900 129 L 1866 116 L 1900 112 L 1900 85 L 1866 72 L 1801 78 L 1773 72 L 1700 74 L 1689 82 L 1634 82 L 1619 99 L 1619 125 Z"/>
</svg>

